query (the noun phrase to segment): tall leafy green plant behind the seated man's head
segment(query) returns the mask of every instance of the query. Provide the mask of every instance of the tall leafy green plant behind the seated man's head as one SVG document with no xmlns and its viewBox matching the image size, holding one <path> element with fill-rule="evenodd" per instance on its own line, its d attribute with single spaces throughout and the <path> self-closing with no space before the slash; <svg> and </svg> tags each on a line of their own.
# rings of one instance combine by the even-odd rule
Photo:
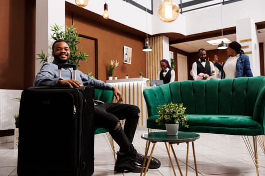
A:
<svg viewBox="0 0 265 176">
<path fill-rule="evenodd" d="M 82 37 L 79 37 L 79 33 L 76 31 L 77 28 L 74 28 L 74 24 L 71 25 L 70 27 L 66 26 L 65 31 L 62 30 L 62 26 L 59 26 L 55 24 L 54 26 L 51 27 L 51 38 L 54 40 L 58 39 L 63 39 L 67 41 L 69 47 L 70 47 L 70 59 L 68 63 L 70 64 L 76 64 L 79 66 L 80 61 L 85 61 L 87 62 L 87 55 L 84 52 L 78 52 L 79 48 L 77 45 L 80 43 L 80 39 Z M 38 53 L 37 56 L 39 58 L 36 58 L 40 60 L 40 63 L 45 63 L 47 62 L 47 56 L 44 54 L 43 50 L 41 50 L 41 53 Z"/>
</svg>

